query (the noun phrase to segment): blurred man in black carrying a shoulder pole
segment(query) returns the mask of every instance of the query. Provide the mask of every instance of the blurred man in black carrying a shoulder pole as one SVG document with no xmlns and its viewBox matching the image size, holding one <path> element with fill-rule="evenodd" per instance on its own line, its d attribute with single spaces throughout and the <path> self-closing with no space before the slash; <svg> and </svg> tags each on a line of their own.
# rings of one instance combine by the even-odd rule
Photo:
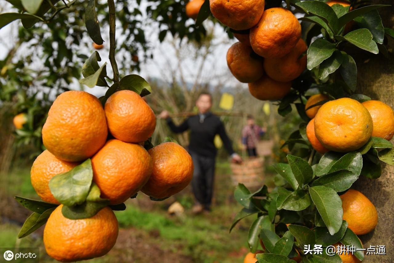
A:
<svg viewBox="0 0 394 263">
<path fill-rule="evenodd" d="M 214 138 L 219 134 L 223 145 L 230 154 L 233 162 L 242 162 L 242 158 L 234 152 L 229 137 L 226 134 L 220 118 L 210 112 L 212 96 L 201 93 L 196 101 L 199 113 L 187 118 L 179 126 L 169 118 L 169 113 L 163 111 L 160 118 L 165 118 L 169 128 L 175 133 L 190 130 L 189 152 L 194 164 L 194 174 L 191 186 L 196 199 L 194 213 L 210 211 L 214 188 L 216 147 Z"/>
</svg>

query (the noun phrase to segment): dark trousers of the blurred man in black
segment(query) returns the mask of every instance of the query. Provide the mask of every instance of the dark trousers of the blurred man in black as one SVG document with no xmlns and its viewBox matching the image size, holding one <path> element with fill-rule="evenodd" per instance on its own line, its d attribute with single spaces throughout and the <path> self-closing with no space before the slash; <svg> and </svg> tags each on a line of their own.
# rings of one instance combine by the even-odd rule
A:
<svg viewBox="0 0 394 263">
<path fill-rule="evenodd" d="M 215 176 L 215 157 L 201 156 L 190 152 L 194 164 L 191 186 L 198 203 L 209 210 L 212 203 Z"/>
</svg>

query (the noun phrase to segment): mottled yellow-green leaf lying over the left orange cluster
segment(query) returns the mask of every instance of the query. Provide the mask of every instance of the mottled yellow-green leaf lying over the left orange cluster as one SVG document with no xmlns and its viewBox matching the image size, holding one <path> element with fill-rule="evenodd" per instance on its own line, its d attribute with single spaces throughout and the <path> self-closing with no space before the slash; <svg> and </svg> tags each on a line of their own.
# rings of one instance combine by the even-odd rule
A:
<svg viewBox="0 0 394 263">
<path fill-rule="evenodd" d="M 80 205 L 89 194 L 92 179 L 92 163 L 87 159 L 70 171 L 52 177 L 49 189 L 55 199 L 63 205 Z"/>
</svg>

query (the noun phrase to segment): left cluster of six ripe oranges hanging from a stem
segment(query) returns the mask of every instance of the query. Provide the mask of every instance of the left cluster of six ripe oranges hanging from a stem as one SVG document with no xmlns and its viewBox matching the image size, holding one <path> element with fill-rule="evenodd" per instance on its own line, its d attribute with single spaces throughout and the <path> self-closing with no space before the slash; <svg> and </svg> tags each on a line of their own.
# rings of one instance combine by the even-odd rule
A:
<svg viewBox="0 0 394 263">
<path fill-rule="evenodd" d="M 191 181 L 193 162 L 177 143 L 145 150 L 143 142 L 155 126 L 152 109 L 136 92 L 117 91 L 104 108 L 84 91 L 60 94 L 43 126 L 47 150 L 33 163 L 33 188 L 43 201 L 59 204 L 49 180 L 91 158 L 93 182 L 111 205 L 125 202 L 140 190 L 156 199 L 181 191 Z M 48 255 L 77 261 L 102 256 L 114 246 L 118 222 L 110 207 L 91 218 L 72 220 L 63 216 L 62 206 L 52 212 L 44 229 Z"/>
</svg>

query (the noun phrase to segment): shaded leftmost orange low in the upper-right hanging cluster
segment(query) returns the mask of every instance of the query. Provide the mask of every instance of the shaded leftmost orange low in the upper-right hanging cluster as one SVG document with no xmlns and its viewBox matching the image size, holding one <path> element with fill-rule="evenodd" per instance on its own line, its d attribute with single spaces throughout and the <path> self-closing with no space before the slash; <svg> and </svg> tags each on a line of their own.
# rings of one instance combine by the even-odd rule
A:
<svg viewBox="0 0 394 263">
<path fill-rule="evenodd" d="M 240 82 L 255 82 L 264 74 L 262 58 L 252 57 L 252 53 L 252 48 L 241 42 L 234 43 L 227 51 L 227 65 Z"/>
</svg>

